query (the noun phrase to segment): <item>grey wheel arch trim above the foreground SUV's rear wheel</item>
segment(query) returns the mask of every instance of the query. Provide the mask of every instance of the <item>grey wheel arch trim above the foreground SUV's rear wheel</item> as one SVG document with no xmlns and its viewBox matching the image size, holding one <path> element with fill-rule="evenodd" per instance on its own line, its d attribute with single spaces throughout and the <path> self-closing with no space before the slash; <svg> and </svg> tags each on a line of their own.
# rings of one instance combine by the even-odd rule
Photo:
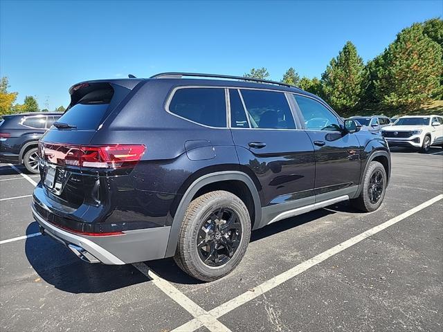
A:
<svg viewBox="0 0 443 332">
<path fill-rule="evenodd" d="M 239 181 L 242 183 L 245 188 L 248 189 L 248 192 L 251 194 L 251 199 L 253 203 L 253 224 L 258 225 L 260 219 L 262 218 L 262 209 L 260 206 L 260 196 L 257 192 L 257 188 L 255 187 L 252 179 L 243 172 L 239 171 L 221 171 L 221 172 L 213 172 L 209 174 L 205 174 L 197 178 L 191 185 L 188 187 L 186 192 L 181 197 L 181 201 L 177 207 L 177 211 L 174 214 L 174 218 L 172 220 L 171 230 L 168 238 L 168 246 L 166 248 L 165 257 L 171 257 L 175 255 L 175 251 L 177 248 L 177 241 L 179 239 L 179 233 L 181 230 L 181 223 L 183 222 L 183 216 L 188 208 L 188 205 L 195 198 L 197 193 L 202 193 L 205 191 L 205 188 L 210 188 L 211 185 L 215 185 L 217 183 L 232 183 L 232 181 Z M 233 192 L 232 190 L 227 190 L 229 192 Z M 244 197 L 239 197 L 244 201 Z M 246 207 L 248 207 L 247 203 Z"/>
</svg>

